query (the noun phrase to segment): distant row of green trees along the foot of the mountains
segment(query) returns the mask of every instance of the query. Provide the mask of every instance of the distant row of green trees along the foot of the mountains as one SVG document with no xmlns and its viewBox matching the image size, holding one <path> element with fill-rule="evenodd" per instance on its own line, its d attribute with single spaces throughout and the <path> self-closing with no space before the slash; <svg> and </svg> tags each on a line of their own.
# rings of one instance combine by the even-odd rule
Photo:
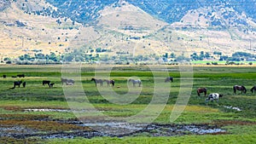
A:
<svg viewBox="0 0 256 144">
<path fill-rule="evenodd" d="M 92 50 L 92 51 L 91 51 Z M 94 53 L 96 52 L 96 53 Z M 90 48 L 90 53 L 88 50 L 85 52 L 84 49 L 73 49 L 69 52 L 62 55 L 55 55 L 55 53 L 51 52 L 49 55 L 44 55 L 41 52 L 38 52 L 34 55 L 20 55 L 17 59 L 11 60 L 6 57 L 2 60 L 6 64 L 56 64 L 61 63 L 63 61 L 71 62 L 71 61 L 82 61 L 82 62 L 94 62 L 94 61 L 113 61 L 115 63 L 127 63 L 133 62 L 137 63 L 138 61 L 156 61 L 160 60 L 163 62 L 169 61 L 189 61 L 189 60 L 210 60 L 213 59 L 213 56 L 208 52 L 201 51 L 200 54 L 193 53 L 190 57 L 186 57 L 185 55 L 175 55 L 171 53 L 170 55 L 166 53 L 165 55 L 131 55 L 128 52 L 120 52 L 116 53 L 116 55 L 108 55 L 109 52 L 107 49 L 96 48 L 93 50 Z M 256 60 L 256 55 L 245 53 L 245 52 L 236 52 L 231 57 L 224 56 L 220 52 L 213 52 L 213 55 L 220 55 L 219 60 L 226 60 L 226 65 L 235 65 L 237 63 L 233 61 L 243 61 L 243 60 Z M 171 58 L 171 60 L 170 60 Z M 241 63 L 242 64 L 242 63 Z M 218 65 L 218 63 L 207 63 L 207 65 Z"/>
</svg>

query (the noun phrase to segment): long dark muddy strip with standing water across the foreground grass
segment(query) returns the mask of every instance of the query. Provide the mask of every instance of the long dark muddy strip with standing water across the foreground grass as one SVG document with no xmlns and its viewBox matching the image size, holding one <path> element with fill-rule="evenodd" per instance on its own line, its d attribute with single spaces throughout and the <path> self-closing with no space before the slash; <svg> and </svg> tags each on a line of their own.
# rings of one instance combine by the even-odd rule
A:
<svg viewBox="0 0 256 144">
<path fill-rule="evenodd" d="M 35 121 L 35 123 L 38 123 Z M 42 122 L 39 122 L 42 123 Z M 45 122 L 49 124 L 53 122 Z M 58 124 L 56 124 L 58 123 Z M 38 125 L 38 124 L 36 124 Z M 92 138 L 95 136 L 173 136 L 173 135 L 206 135 L 224 134 L 226 131 L 217 126 L 207 124 L 129 124 L 124 122 L 103 122 L 82 124 L 79 121 L 58 121 L 50 124 L 51 129 L 56 125 L 61 129 L 55 130 L 38 129 L 36 126 L 28 124 L 0 124 L 0 137 L 8 136 L 16 139 L 29 137 L 39 137 L 41 139 L 74 137 Z M 47 126 L 47 125 L 45 125 Z M 49 127 L 49 125 L 47 126 Z M 64 129 L 65 128 L 65 129 Z M 66 129 L 68 128 L 68 129 Z M 102 129 L 102 130 L 99 130 Z M 97 131 L 98 130 L 98 131 Z M 106 131 L 108 130 L 108 131 Z M 119 131 L 112 131 L 119 130 Z M 104 131 L 104 133 L 102 132 Z M 123 133 L 122 133 L 123 131 Z M 109 133 L 108 133 L 109 132 Z M 115 133 L 116 132 L 116 133 Z M 128 133 L 129 132 L 129 133 Z"/>
</svg>

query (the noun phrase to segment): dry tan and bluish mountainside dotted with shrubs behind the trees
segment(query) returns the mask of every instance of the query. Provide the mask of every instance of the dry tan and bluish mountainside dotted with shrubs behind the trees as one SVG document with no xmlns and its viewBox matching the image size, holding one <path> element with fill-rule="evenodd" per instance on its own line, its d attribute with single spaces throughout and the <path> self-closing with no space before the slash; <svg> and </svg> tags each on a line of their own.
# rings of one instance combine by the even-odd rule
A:
<svg viewBox="0 0 256 144">
<path fill-rule="evenodd" d="M 243 3 L 249 1 L 5 0 L 0 56 L 73 49 L 119 57 L 255 53 L 255 14 L 248 9 L 255 1 Z"/>
</svg>

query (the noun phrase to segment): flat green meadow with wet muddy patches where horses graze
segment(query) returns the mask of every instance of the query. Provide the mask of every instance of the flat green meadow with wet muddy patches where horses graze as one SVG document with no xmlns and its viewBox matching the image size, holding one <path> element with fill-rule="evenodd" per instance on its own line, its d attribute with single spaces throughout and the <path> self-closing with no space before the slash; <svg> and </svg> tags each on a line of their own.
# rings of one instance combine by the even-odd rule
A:
<svg viewBox="0 0 256 144">
<path fill-rule="evenodd" d="M 148 66 L 113 66 L 111 72 L 108 65 L 95 67 L 82 65 L 79 72 L 68 73 L 61 65 L 0 66 L 0 143 L 256 141 L 256 92 L 250 90 L 256 85 L 256 66 L 194 66 L 188 72 L 191 78 L 182 75 L 179 66 L 154 66 L 154 72 Z M 109 74 L 114 86 L 103 82 L 96 87 L 91 81 L 96 73 L 102 78 Z M 166 73 L 173 82 L 165 83 Z M 25 78 L 12 78 L 17 74 Z M 75 83 L 62 85 L 61 77 Z M 139 78 L 142 86 L 134 87 L 129 78 Z M 14 82 L 20 80 L 26 87 L 14 89 Z M 43 85 L 43 80 L 53 87 Z M 234 94 L 236 84 L 244 85 L 247 93 Z M 207 88 L 207 95 L 224 96 L 206 102 L 207 96 L 197 95 L 200 87 Z M 188 103 L 170 121 L 182 92 L 189 93 Z M 147 116 L 157 117 L 145 121 Z"/>
</svg>

